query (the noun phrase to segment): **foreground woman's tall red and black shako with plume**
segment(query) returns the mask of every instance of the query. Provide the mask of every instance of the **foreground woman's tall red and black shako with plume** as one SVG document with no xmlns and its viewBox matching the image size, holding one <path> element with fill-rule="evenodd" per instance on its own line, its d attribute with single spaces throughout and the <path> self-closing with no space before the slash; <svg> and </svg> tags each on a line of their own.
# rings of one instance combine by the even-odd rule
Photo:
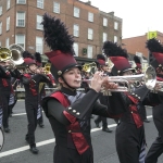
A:
<svg viewBox="0 0 163 163">
<path fill-rule="evenodd" d="M 54 78 L 58 80 L 65 71 L 74 66 L 82 70 L 82 66 L 77 64 L 74 58 L 73 36 L 68 34 L 64 23 L 62 23 L 61 20 L 45 13 L 41 24 L 43 25 L 45 41 L 52 50 L 45 54 L 51 62 L 51 73 Z"/>
</svg>

